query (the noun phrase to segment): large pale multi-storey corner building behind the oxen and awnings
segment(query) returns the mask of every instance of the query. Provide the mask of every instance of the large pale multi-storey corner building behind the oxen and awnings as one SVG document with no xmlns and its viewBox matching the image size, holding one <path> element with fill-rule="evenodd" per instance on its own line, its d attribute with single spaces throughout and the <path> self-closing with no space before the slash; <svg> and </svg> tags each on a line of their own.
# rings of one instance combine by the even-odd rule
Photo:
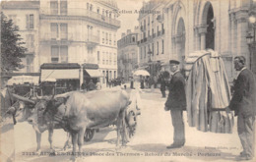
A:
<svg viewBox="0 0 256 162">
<path fill-rule="evenodd" d="M 10 3 L 13 8 L 9 7 Z M 28 2 L 3 3 L 3 12 L 11 16 L 10 19 L 15 14 L 20 19 L 20 13 L 32 13 L 23 8 L 22 3 Z M 115 1 L 35 0 L 30 3 L 37 5 L 36 13 L 29 17 L 36 33 L 34 41 L 31 40 L 33 72 L 39 72 L 43 63 L 86 63 L 98 65 L 103 75 L 102 85 L 117 78 L 116 31 L 120 22 Z M 18 26 L 26 21 L 20 23 Z"/>
</svg>

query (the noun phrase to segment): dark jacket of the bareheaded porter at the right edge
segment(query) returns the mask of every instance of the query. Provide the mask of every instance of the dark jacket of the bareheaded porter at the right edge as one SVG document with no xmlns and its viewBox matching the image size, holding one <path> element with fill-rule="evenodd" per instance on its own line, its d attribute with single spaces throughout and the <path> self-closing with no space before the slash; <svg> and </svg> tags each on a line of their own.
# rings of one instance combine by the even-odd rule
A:
<svg viewBox="0 0 256 162">
<path fill-rule="evenodd" d="M 255 116 L 255 78 L 251 71 L 243 70 L 233 86 L 233 96 L 229 103 L 229 108 L 235 113 L 244 116 Z"/>
</svg>

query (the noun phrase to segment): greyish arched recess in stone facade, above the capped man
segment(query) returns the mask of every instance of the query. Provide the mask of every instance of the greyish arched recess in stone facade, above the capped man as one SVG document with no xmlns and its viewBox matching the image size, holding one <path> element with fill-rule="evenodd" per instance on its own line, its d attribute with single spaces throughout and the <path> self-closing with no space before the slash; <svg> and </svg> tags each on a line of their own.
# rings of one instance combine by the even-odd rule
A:
<svg viewBox="0 0 256 162">
<path fill-rule="evenodd" d="M 180 68 L 183 68 L 185 60 L 185 43 L 186 43 L 186 33 L 185 33 L 185 24 L 183 18 L 179 18 L 177 26 L 177 53 L 178 59 L 180 61 Z"/>
</svg>

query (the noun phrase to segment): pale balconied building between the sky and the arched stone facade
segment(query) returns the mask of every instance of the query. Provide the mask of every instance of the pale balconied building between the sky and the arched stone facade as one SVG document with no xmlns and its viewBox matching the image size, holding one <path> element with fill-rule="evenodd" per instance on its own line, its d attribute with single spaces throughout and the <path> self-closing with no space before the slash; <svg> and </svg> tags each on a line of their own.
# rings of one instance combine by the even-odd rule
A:
<svg viewBox="0 0 256 162">
<path fill-rule="evenodd" d="M 165 1 L 144 2 L 139 15 L 140 69 L 146 69 L 152 76 L 158 76 L 160 64 L 168 60 L 165 51 L 164 4 Z"/>
</svg>

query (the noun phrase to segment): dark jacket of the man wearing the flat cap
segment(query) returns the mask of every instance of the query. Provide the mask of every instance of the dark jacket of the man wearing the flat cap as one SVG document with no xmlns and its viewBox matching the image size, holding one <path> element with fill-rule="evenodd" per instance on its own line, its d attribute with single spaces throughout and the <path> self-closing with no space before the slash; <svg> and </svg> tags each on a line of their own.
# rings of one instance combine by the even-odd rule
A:
<svg viewBox="0 0 256 162">
<path fill-rule="evenodd" d="M 169 82 L 169 94 L 165 107 L 169 110 L 186 110 L 185 79 L 180 72 L 175 73 Z"/>
</svg>

